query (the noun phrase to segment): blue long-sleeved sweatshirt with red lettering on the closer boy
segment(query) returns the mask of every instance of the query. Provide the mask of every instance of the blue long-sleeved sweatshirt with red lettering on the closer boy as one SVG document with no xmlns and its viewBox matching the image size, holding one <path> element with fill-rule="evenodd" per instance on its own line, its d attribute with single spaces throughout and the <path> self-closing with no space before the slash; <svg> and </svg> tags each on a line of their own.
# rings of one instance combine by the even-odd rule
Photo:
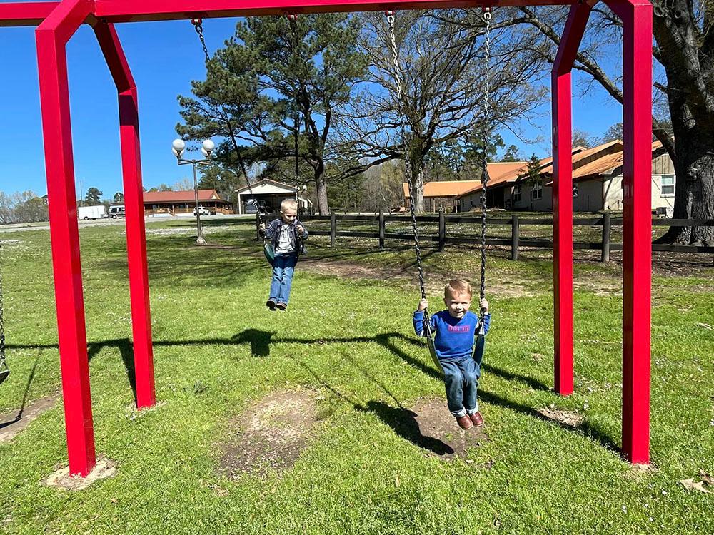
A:
<svg viewBox="0 0 714 535">
<path fill-rule="evenodd" d="M 429 317 L 429 325 L 434 335 L 434 347 L 439 359 L 462 360 L 473 354 L 473 342 L 478 334 L 479 319 L 469 310 L 458 319 L 441 310 Z M 483 334 L 486 335 L 491 326 L 491 314 L 483 316 Z M 418 336 L 426 336 L 424 331 L 424 312 L 414 312 L 414 332 Z"/>
</svg>

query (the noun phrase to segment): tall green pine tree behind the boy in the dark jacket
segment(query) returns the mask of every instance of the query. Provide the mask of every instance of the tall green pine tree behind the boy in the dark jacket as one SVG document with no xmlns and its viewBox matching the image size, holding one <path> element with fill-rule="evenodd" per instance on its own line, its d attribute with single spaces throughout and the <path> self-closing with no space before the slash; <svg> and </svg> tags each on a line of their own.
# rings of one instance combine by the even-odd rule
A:
<svg viewBox="0 0 714 535">
<path fill-rule="evenodd" d="M 179 99 L 186 122 L 179 133 L 193 140 L 225 136 L 216 160 L 237 163 L 243 174 L 246 163 L 294 159 L 299 133 L 298 158 L 312 170 L 318 209 L 328 213 L 331 129 L 367 68 L 359 28 L 360 20 L 345 14 L 239 22 L 208 62 L 206 81 L 193 83 L 198 100 Z"/>
</svg>

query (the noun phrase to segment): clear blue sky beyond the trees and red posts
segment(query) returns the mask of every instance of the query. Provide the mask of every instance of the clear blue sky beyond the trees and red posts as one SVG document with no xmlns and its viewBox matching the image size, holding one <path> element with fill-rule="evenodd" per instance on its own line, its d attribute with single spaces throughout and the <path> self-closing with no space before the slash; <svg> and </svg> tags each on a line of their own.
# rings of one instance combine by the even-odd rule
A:
<svg viewBox="0 0 714 535">
<path fill-rule="evenodd" d="M 206 44 L 213 53 L 233 35 L 236 19 L 203 21 Z M 203 51 L 189 21 L 120 24 L 117 32 L 139 88 L 141 158 L 144 185 L 172 185 L 187 178 L 171 154 L 179 120 L 178 94 L 190 93 L 193 79 L 205 73 Z M 116 89 L 88 26 L 67 46 L 76 190 L 94 186 L 111 198 L 121 191 L 121 162 Z M 46 193 L 34 28 L 0 28 L 0 190 Z M 548 73 L 549 75 L 549 73 Z M 578 73 L 574 73 L 574 78 Z M 548 76 L 549 78 L 549 76 Z M 546 78 L 547 79 L 547 78 Z M 573 81 L 574 91 L 575 79 Z M 528 138 L 542 140 L 525 147 L 502 132 L 506 146 L 516 144 L 525 156 L 550 154 L 550 104 L 540 110 L 535 128 L 523 125 Z M 573 102 L 573 128 L 602 136 L 621 121 L 620 105 L 593 84 L 587 98 Z"/>
</svg>

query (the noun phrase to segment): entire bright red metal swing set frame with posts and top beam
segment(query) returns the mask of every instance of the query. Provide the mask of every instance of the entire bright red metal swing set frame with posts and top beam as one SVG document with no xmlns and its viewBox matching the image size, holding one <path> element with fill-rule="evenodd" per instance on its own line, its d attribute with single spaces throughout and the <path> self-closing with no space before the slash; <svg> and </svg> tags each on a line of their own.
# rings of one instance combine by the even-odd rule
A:
<svg viewBox="0 0 714 535">
<path fill-rule="evenodd" d="M 555 392 L 573 392 L 573 169 L 570 71 L 590 11 L 598 0 L 61 0 L 1 3 L 0 26 L 35 31 L 49 195 L 54 288 L 69 470 L 94 467 L 84 295 L 74 191 L 66 44 L 81 24 L 94 29 L 119 96 L 121 167 L 134 342 L 137 406 L 156 403 L 149 275 L 139 150 L 136 84 L 114 24 L 260 15 L 438 9 L 446 7 L 570 5 L 552 71 Z M 623 22 L 623 432 L 632 463 L 649 462 L 652 5 L 604 0 Z"/>
</svg>

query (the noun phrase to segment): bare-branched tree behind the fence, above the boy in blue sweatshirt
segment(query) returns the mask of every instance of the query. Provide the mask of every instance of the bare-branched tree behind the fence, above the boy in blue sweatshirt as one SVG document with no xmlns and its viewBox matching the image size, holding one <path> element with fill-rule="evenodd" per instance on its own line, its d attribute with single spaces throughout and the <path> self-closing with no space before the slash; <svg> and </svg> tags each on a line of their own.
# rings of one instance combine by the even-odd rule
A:
<svg viewBox="0 0 714 535">
<path fill-rule="evenodd" d="M 483 132 L 490 133 L 494 124 L 508 125 L 515 118 L 528 116 L 544 94 L 533 87 L 539 70 L 529 49 L 538 45 L 503 39 L 494 29 L 491 52 L 499 58 L 499 69 L 491 73 L 487 128 L 481 117 L 483 19 L 478 18 L 480 26 L 471 28 L 467 17 L 476 20 L 476 10 L 398 11 L 398 74 L 384 16 L 364 15 L 368 28 L 363 46 L 371 58 L 371 81 L 386 91 L 369 87 L 353 98 L 343 138 L 354 140 L 363 158 L 406 158 L 412 174 L 411 198 L 418 212 L 423 211 L 425 169 L 429 159 L 435 159 L 430 156 L 435 147 L 465 138 L 465 145 L 473 143 Z M 398 106 L 398 77 L 403 86 L 402 110 Z M 406 140 L 398 128 L 402 121 L 407 126 Z"/>
</svg>

